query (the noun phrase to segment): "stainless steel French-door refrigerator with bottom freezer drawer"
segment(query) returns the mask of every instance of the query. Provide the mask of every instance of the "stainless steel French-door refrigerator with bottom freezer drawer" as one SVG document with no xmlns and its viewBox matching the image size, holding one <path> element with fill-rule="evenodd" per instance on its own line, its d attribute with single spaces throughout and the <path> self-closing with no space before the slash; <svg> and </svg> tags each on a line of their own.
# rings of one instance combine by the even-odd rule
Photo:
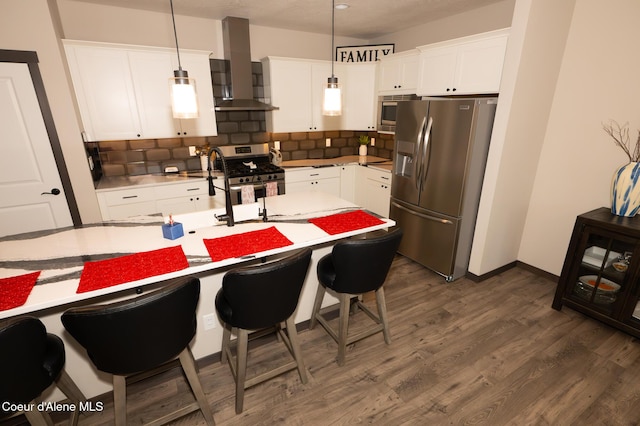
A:
<svg viewBox="0 0 640 426">
<path fill-rule="evenodd" d="M 389 216 L 398 251 L 447 281 L 469 266 L 497 98 L 398 102 Z"/>
</svg>

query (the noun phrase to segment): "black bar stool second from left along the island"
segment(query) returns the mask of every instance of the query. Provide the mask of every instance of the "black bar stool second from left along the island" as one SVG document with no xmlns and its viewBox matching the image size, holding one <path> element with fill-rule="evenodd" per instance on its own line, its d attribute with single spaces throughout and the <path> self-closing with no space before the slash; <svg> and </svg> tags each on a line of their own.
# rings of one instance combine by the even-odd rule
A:
<svg viewBox="0 0 640 426">
<path fill-rule="evenodd" d="M 127 376 L 155 369 L 176 357 L 197 402 L 150 424 L 165 424 L 198 409 L 207 424 L 215 424 L 189 349 L 196 333 L 199 297 L 200 280 L 181 278 L 143 296 L 73 308 L 62 315 L 64 327 L 87 350 L 96 368 L 113 375 L 116 425 L 127 424 Z"/>
</svg>

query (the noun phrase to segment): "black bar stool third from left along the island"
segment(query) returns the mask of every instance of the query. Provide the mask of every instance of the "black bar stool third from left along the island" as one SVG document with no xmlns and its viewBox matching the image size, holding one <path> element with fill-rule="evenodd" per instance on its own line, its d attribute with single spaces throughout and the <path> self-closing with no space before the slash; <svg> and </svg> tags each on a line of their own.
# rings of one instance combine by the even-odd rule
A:
<svg viewBox="0 0 640 426">
<path fill-rule="evenodd" d="M 307 374 L 302 361 L 293 314 L 298 306 L 302 285 L 307 276 L 311 250 L 270 263 L 238 268 L 225 274 L 216 295 L 216 310 L 224 324 L 221 362 L 229 361 L 236 382 L 236 413 L 242 412 L 244 391 L 282 373 L 298 369 L 302 383 Z M 286 324 L 286 333 L 281 323 Z M 293 356 L 293 361 L 247 379 L 249 330 L 275 327 L 278 336 Z M 231 333 L 237 337 L 235 364 L 231 354 Z M 255 335 L 264 335 L 256 333 Z M 254 337 L 254 335 L 252 335 Z"/>
</svg>

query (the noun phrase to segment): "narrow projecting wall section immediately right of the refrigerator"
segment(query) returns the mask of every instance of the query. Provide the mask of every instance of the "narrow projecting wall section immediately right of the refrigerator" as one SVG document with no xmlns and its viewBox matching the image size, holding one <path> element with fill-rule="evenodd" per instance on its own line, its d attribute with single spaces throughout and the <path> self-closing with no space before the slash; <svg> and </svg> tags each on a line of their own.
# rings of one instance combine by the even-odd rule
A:
<svg viewBox="0 0 640 426">
<path fill-rule="evenodd" d="M 574 2 L 516 3 L 469 265 L 476 275 L 519 260 Z"/>
</svg>

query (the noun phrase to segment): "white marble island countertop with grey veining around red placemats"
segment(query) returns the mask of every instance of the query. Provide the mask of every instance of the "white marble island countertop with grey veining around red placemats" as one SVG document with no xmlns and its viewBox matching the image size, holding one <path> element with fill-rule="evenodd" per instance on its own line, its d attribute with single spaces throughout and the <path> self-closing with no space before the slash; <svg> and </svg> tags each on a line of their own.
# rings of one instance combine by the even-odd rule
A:
<svg viewBox="0 0 640 426">
<path fill-rule="evenodd" d="M 252 220 L 237 223 L 234 227 L 225 225 L 199 227 L 200 225 L 195 222 L 185 223 L 184 237 L 176 240 L 168 240 L 162 236 L 161 224 L 164 219 L 160 216 L 143 216 L 135 220 L 112 221 L 82 228 L 41 231 L 1 238 L 0 253 L 3 255 L 0 260 L 0 278 L 35 271 L 42 272 L 27 302 L 17 308 L 0 311 L 0 318 L 36 312 L 179 276 L 213 271 L 247 261 L 245 257 L 242 257 L 212 262 L 202 241 L 205 238 L 217 238 L 275 226 L 293 245 L 254 253 L 255 257 L 263 257 L 385 229 L 395 224 L 390 219 L 382 218 L 384 223 L 381 225 L 329 235 L 315 225 L 308 223 L 306 219 L 354 210 L 358 206 L 329 194 L 319 195 L 317 193 L 287 194 L 268 197 L 264 200 L 269 213 L 269 222 Z M 251 206 L 262 208 L 263 204 L 260 202 L 249 205 L 249 207 L 241 206 L 239 208 L 247 209 Z M 223 213 L 208 212 L 211 215 Z M 198 212 L 194 218 L 197 219 L 206 214 L 207 212 Z M 258 211 L 244 216 L 245 218 L 257 219 L 257 214 Z M 242 216 L 242 214 L 239 215 Z M 183 215 L 182 218 L 190 220 L 187 215 Z M 86 261 L 114 258 L 176 245 L 182 246 L 189 262 L 187 269 L 101 290 L 76 293 L 80 273 Z"/>
</svg>

